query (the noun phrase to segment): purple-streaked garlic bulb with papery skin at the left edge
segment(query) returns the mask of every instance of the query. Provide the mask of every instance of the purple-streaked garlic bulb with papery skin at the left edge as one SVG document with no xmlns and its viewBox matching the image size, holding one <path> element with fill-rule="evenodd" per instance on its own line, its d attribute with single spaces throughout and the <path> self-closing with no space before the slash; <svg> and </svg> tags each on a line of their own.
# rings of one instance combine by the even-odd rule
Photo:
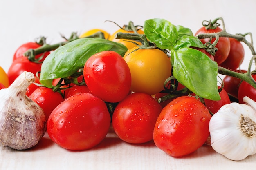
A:
<svg viewBox="0 0 256 170">
<path fill-rule="evenodd" d="M 46 132 L 43 109 L 26 96 L 34 74 L 23 72 L 8 87 L 0 90 L 0 145 L 24 150 L 38 144 Z"/>
</svg>

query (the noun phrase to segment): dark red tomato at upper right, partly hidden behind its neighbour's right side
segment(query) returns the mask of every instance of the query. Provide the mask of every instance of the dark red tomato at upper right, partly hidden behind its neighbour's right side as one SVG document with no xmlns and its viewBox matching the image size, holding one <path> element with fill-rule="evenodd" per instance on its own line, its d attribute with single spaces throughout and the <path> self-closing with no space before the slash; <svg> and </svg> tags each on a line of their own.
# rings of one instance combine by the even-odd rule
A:
<svg viewBox="0 0 256 170">
<path fill-rule="evenodd" d="M 230 52 L 227 59 L 220 64 L 220 66 L 229 70 L 236 70 L 242 64 L 245 58 L 245 50 L 240 41 L 229 38 Z"/>
</svg>

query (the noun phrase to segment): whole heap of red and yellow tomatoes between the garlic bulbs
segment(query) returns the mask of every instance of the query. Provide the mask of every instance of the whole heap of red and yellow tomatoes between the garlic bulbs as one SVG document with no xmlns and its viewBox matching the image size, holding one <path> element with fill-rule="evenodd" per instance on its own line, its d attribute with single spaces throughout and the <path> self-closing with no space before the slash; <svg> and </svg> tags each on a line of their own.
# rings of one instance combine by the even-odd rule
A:
<svg viewBox="0 0 256 170">
<path fill-rule="evenodd" d="M 99 29 L 83 36 L 89 36 L 95 31 Z M 195 35 L 219 31 L 222 30 L 202 28 Z M 138 32 L 143 33 L 143 30 Z M 115 33 L 110 35 L 104 31 L 104 35 L 105 38 L 117 41 L 113 39 Z M 204 43 L 208 41 L 202 40 Z M 231 101 L 228 94 L 239 98 L 239 101 L 243 95 L 255 100 L 251 96 L 256 96 L 254 88 L 245 82 L 240 84 L 239 79 L 228 80 L 225 77 L 220 101 L 203 99 L 204 102 L 201 102 L 191 94 L 159 104 L 157 99 L 168 94 L 162 93 L 162 90 L 165 80 L 171 76 L 170 58 L 162 50 L 137 49 L 137 46 L 131 47 L 126 42 L 121 40 L 128 47 L 124 57 L 114 51 L 103 51 L 87 60 L 80 77 L 86 85 L 64 85 L 62 87 L 67 89 L 54 91 L 52 88 L 38 86 L 40 82 L 36 77 L 37 84 L 27 88 L 26 95 L 45 112 L 49 137 L 59 146 L 69 150 L 90 149 L 103 141 L 112 124 L 116 135 L 125 142 L 141 144 L 154 141 L 168 155 L 181 157 L 194 152 L 207 140 L 210 112 L 214 114 L 221 106 L 229 104 Z M 22 56 L 28 49 L 38 47 L 38 44 L 27 43 L 17 49 L 8 71 L 10 84 L 23 71 L 34 74 L 40 71 L 40 63 L 31 62 Z M 240 42 L 220 38 L 216 47 L 218 51 L 214 57 L 203 49 L 198 50 L 207 54 L 219 66 L 231 70 L 240 66 L 244 56 Z M 45 53 L 44 57 L 48 54 Z M 253 78 L 256 79 L 256 76 L 253 75 Z M 55 79 L 53 86 L 57 86 L 61 80 Z M 5 88 L 2 82 L 0 88 Z M 177 90 L 182 88 L 184 86 L 179 84 Z M 251 90 L 247 93 L 245 89 Z M 112 104 L 113 110 L 108 107 L 109 104 Z"/>
</svg>

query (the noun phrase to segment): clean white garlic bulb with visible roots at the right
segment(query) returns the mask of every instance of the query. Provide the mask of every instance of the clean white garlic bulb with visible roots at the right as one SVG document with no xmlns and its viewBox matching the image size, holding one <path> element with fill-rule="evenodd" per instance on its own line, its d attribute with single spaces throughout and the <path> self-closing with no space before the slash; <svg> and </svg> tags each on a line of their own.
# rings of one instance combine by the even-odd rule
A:
<svg viewBox="0 0 256 170">
<path fill-rule="evenodd" d="M 256 102 L 226 104 L 209 123 L 211 146 L 228 159 L 239 161 L 256 153 Z"/>
</svg>

